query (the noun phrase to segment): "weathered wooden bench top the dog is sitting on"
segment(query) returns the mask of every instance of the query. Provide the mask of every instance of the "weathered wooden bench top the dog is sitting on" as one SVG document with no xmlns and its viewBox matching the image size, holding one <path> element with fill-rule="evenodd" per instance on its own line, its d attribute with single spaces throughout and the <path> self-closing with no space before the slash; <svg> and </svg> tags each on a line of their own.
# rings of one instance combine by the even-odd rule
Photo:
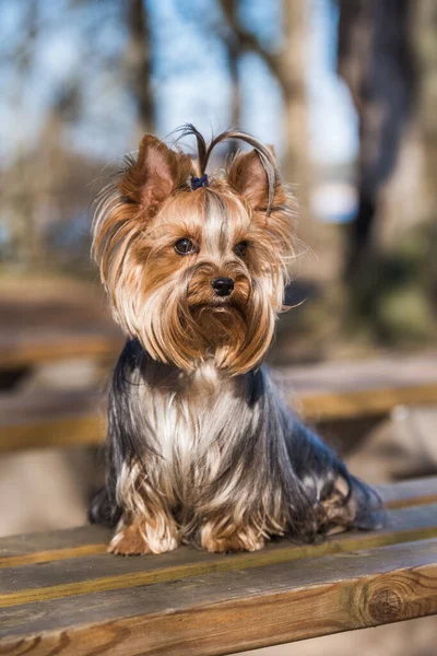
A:
<svg viewBox="0 0 437 656">
<path fill-rule="evenodd" d="M 208 656 L 437 613 L 437 478 L 381 487 L 388 524 L 257 553 L 105 553 L 83 527 L 0 540 L 0 654 Z"/>
</svg>

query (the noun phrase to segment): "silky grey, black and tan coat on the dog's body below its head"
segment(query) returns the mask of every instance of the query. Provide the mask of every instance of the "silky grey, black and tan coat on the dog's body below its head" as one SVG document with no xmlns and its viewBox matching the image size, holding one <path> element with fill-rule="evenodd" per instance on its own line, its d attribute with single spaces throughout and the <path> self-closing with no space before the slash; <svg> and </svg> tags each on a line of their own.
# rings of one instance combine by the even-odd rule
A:
<svg viewBox="0 0 437 656">
<path fill-rule="evenodd" d="M 175 380 L 179 382 L 176 387 Z M 229 516 L 236 525 L 253 522 L 264 537 L 286 535 L 305 541 L 335 525 L 370 529 L 381 523 L 376 493 L 351 476 L 336 455 L 285 407 L 265 367 L 215 380 L 209 407 L 209 417 L 215 414 L 215 435 L 202 435 L 200 418 L 199 432 L 189 445 L 178 445 L 175 426 L 174 445 L 160 453 L 160 420 L 151 421 L 139 400 L 144 399 L 146 407 L 150 395 L 153 403 L 153 390 L 158 389 L 164 407 L 180 402 L 184 413 L 193 385 L 192 374 L 154 362 L 137 340 L 128 341 L 109 396 L 107 481 L 93 500 L 91 522 L 109 526 L 120 522 L 126 508 L 118 487 L 135 465 L 138 476 L 153 482 L 186 542 L 199 544 L 202 524 L 217 516 Z M 234 408 L 223 413 L 222 399 L 229 387 Z M 209 420 L 204 421 L 210 430 Z M 233 430 L 227 436 L 229 425 Z M 210 449 L 212 443 L 218 465 L 210 478 L 201 470 L 210 467 L 204 448 Z M 190 454 L 192 461 L 187 465 Z M 239 509 L 234 515 L 234 506 L 241 495 L 246 507 L 240 517 Z M 222 500 L 218 505 L 214 503 L 217 499 Z M 152 505 L 155 503 L 153 495 Z"/>
</svg>

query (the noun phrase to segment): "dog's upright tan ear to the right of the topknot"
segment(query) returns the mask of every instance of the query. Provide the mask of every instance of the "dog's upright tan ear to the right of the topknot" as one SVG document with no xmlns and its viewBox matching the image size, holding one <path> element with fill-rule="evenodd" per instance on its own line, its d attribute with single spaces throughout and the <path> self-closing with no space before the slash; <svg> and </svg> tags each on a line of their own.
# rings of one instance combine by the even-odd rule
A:
<svg viewBox="0 0 437 656">
<path fill-rule="evenodd" d="M 268 149 L 274 157 L 273 147 Z M 274 173 L 272 204 L 280 204 L 285 201 L 285 192 L 275 166 L 272 167 L 272 172 Z M 269 178 L 257 151 L 237 153 L 228 167 L 227 179 L 233 189 L 240 194 L 253 210 L 265 210 L 269 206 Z"/>
</svg>

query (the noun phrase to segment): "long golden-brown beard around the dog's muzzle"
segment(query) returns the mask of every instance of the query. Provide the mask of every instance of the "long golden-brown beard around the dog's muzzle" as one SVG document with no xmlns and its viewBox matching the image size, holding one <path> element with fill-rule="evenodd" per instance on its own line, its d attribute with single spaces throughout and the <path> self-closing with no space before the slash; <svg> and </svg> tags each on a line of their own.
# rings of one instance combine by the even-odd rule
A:
<svg viewBox="0 0 437 656">
<path fill-rule="evenodd" d="M 187 285 L 152 293 L 135 321 L 134 337 L 161 362 L 192 371 L 213 359 L 229 375 L 261 364 L 273 337 L 275 312 L 261 284 L 241 285 L 229 298 L 212 298 Z"/>
</svg>

